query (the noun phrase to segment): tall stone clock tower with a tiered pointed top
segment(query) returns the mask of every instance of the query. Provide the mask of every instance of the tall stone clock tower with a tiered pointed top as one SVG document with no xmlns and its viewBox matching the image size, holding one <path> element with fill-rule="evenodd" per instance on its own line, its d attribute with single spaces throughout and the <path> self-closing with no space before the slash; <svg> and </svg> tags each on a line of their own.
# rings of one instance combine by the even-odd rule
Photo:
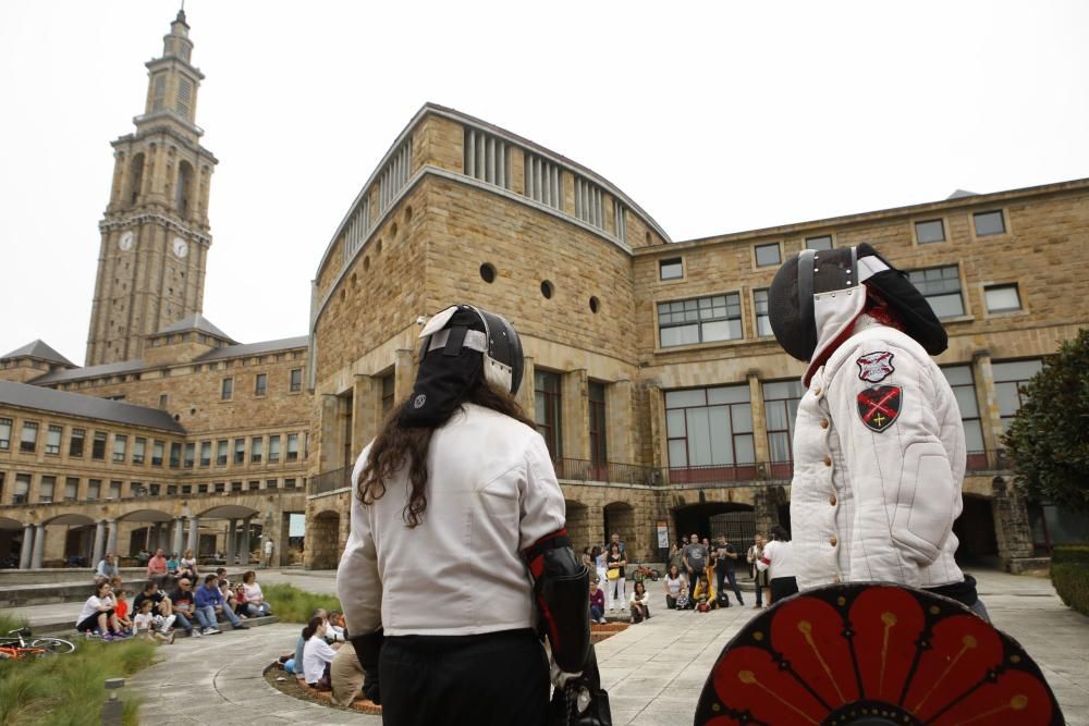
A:
<svg viewBox="0 0 1089 726">
<path fill-rule="evenodd" d="M 194 122 L 204 74 L 180 11 L 162 56 L 146 63 L 136 130 L 113 141 L 113 184 L 101 247 L 87 366 L 143 355 L 145 336 L 200 312 L 211 234 L 208 190 L 217 159 Z"/>
</svg>

